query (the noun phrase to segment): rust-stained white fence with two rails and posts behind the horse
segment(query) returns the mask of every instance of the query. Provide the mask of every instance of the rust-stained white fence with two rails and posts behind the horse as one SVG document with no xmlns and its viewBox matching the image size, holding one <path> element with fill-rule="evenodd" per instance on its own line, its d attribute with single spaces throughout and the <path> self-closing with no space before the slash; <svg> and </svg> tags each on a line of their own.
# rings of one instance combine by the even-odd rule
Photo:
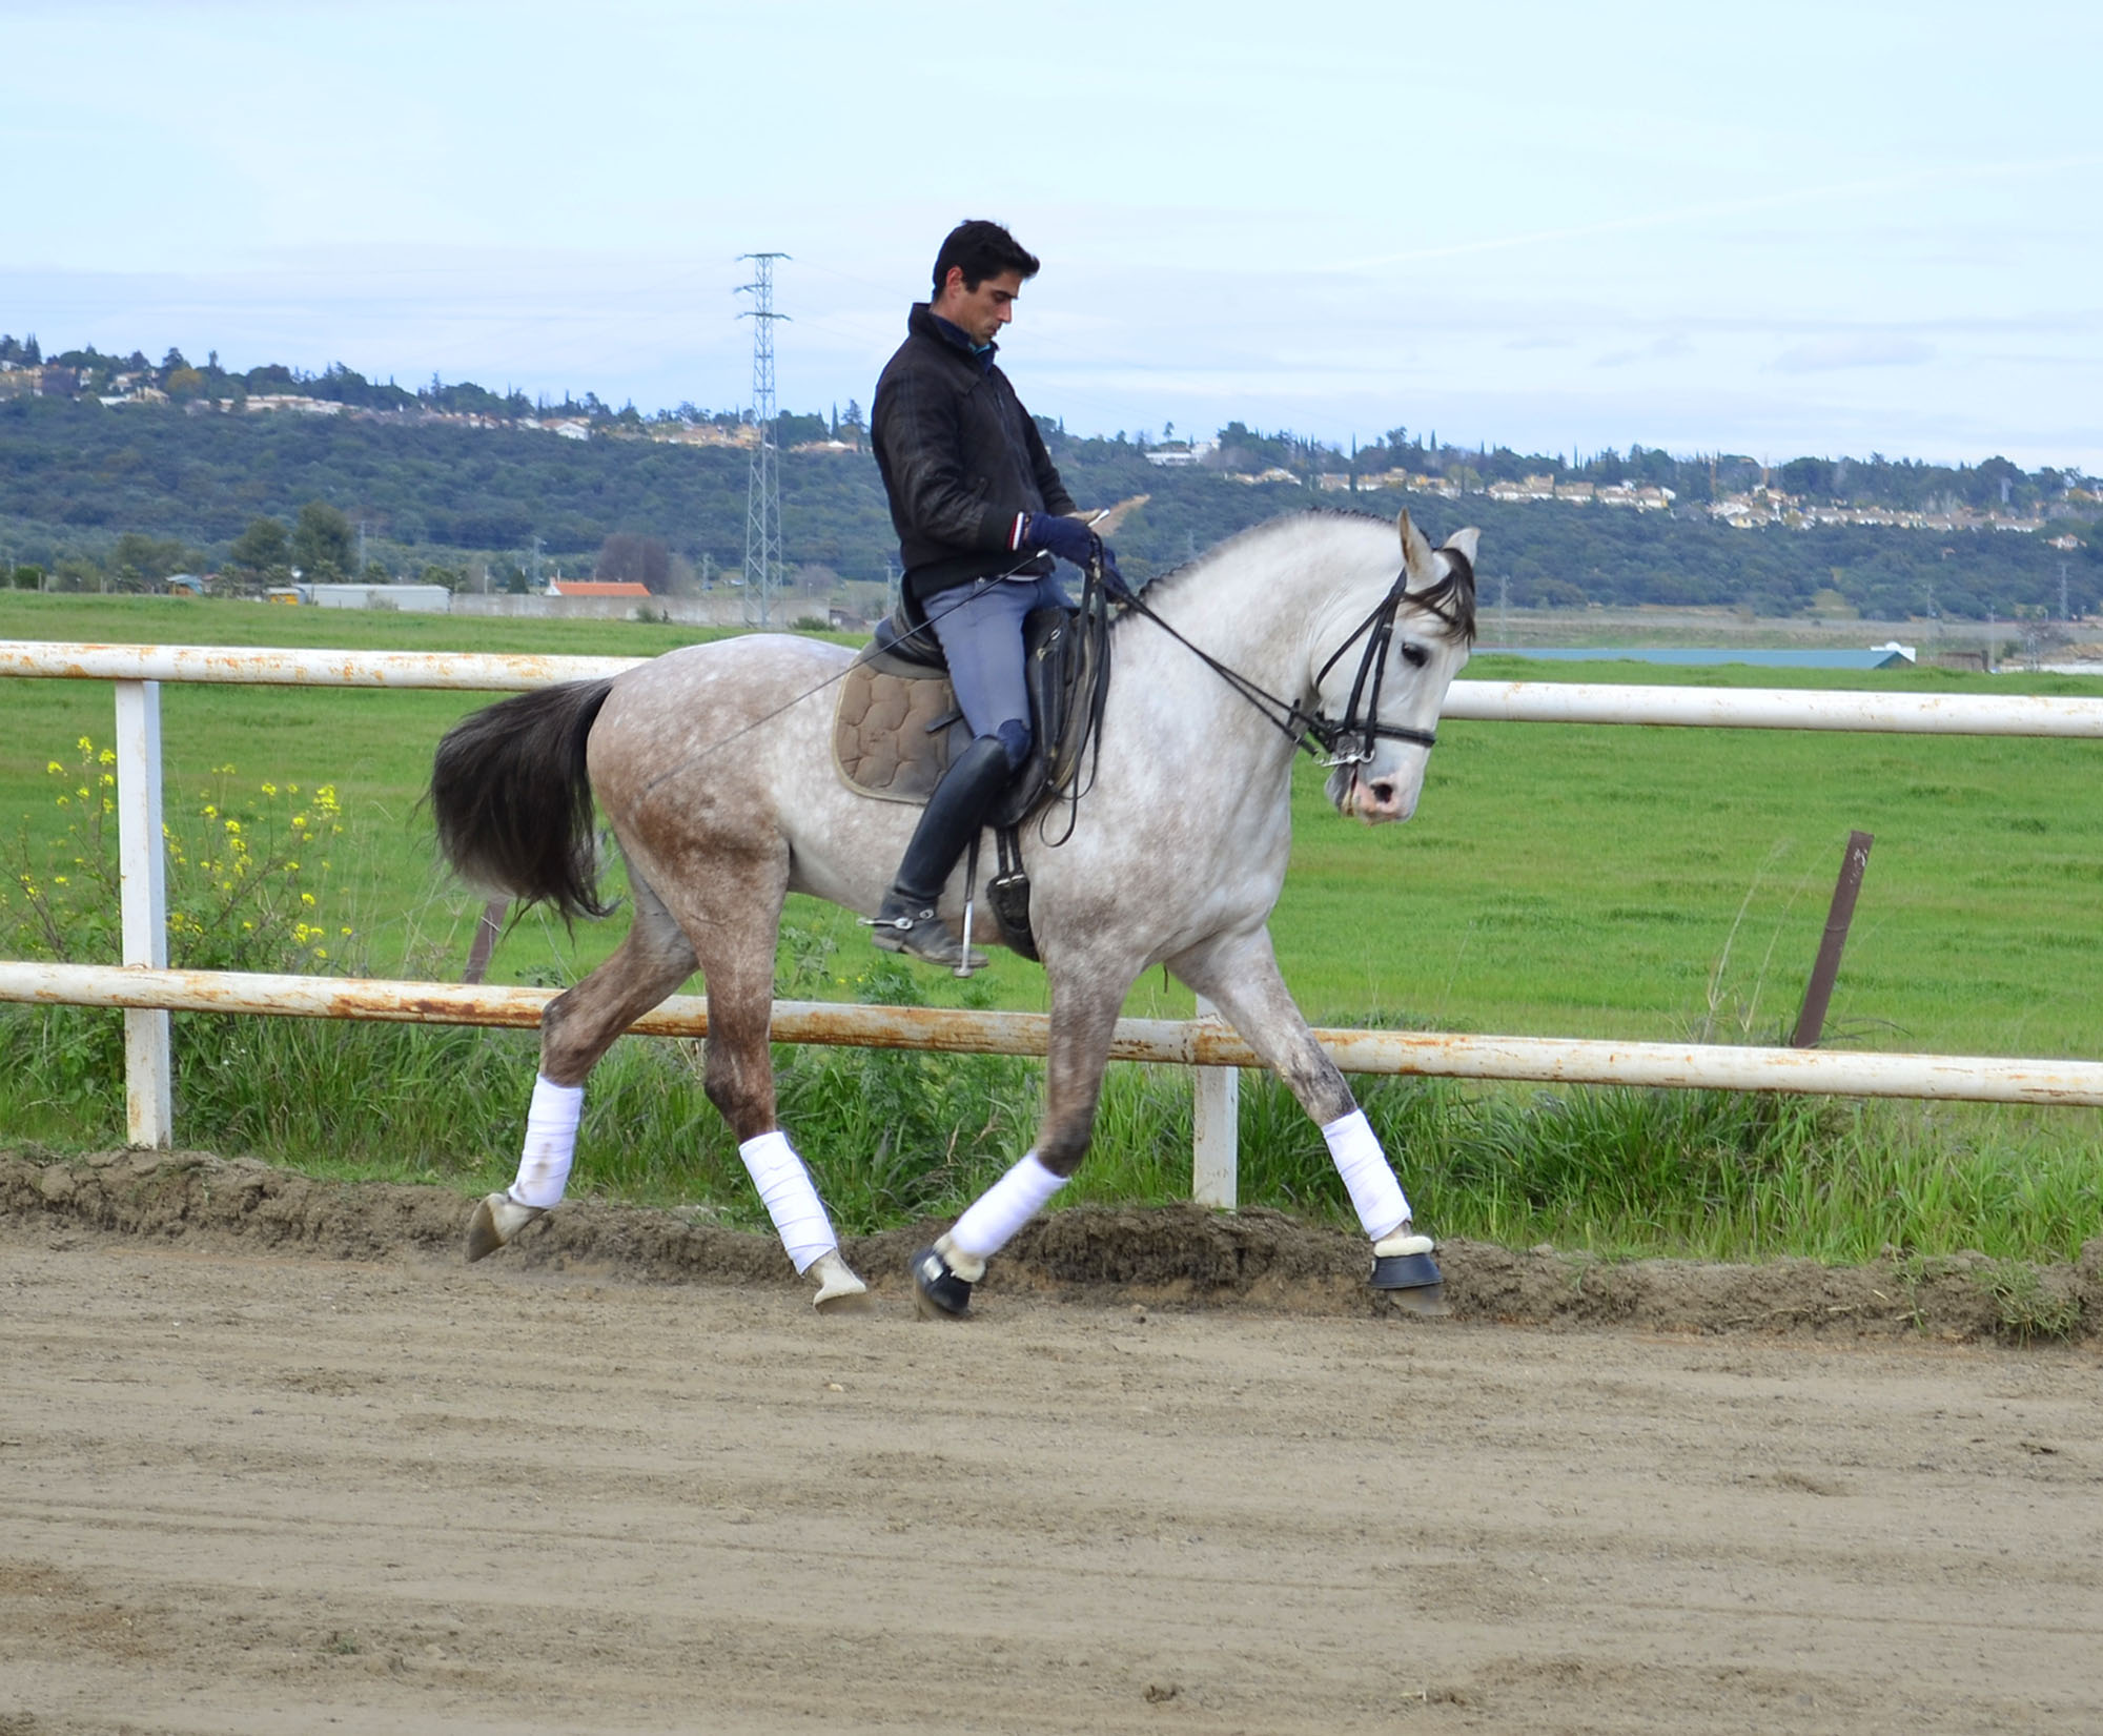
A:
<svg viewBox="0 0 2103 1736">
<path fill-rule="evenodd" d="M 290 687 L 452 687 L 524 691 L 595 679 L 637 658 L 452 652 L 311 652 L 215 645 L 0 641 L 0 675 L 116 683 L 118 836 L 124 960 L 0 963 L 0 1000 L 122 1007 L 126 1108 L 135 1145 L 172 1141 L 168 1013 L 271 1013 L 425 1024 L 536 1026 L 551 990 L 479 984 L 170 971 L 162 839 L 160 683 Z M 1455 681 L 1449 719 L 1647 723 L 1733 729 L 1855 729 L 1916 736 L 2103 736 L 2103 700 L 1859 694 L 1758 687 L 1636 687 L 1554 681 Z M 1209 1013 L 1201 1005 L 1201 1013 Z M 673 996 L 635 1024 L 656 1036 L 705 1036 L 707 998 Z M 776 1042 L 1043 1055 L 1041 1013 L 854 1007 L 780 1000 Z M 1979 1055 L 1874 1055 L 1817 1049 L 1594 1042 L 1438 1032 L 1316 1032 L 1346 1072 L 1565 1084 L 1941 1097 L 2103 1105 L 2103 1063 Z M 1192 1194 L 1234 1202 L 1234 1074 L 1255 1057 L 1213 1017 L 1121 1019 L 1115 1059 L 1199 1068 Z"/>
</svg>

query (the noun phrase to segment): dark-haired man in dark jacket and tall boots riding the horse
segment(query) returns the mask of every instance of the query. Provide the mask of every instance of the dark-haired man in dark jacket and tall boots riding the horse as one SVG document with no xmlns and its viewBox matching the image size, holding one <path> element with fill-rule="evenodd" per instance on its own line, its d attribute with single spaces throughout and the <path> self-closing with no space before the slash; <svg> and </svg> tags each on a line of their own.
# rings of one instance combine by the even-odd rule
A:
<svg viewBox="0 0 2103 1736">
<path fill-rule="evenodd" d="M 934 296 L 915 303 L 906 340 L 877 380 L 877 469 L 904 561 L 906 614 L 925 620 L 948 660 L 972 744 L 948 765 L 877 910 L 875 942 L 930 965 L 959 965 L 965 942 L 936 902 L 1030 752 L 1022 620 L 1073 601 L 1052 557 L 1102 559 L 1112 597 L 1125 582 L 1073 496 L 1037 422 L 995 366 L 997 332 L 1037 256 L 999 223 L 959 223 L 934 261 Z"/>
</svg>

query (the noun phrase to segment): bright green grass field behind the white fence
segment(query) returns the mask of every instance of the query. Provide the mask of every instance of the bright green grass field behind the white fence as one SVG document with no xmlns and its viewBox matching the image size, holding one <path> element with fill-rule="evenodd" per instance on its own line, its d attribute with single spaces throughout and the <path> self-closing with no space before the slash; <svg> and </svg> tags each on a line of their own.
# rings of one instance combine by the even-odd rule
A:
<svg viewBox="0 0 2103 1736">
<path fill-rule="evenodd" d="M 648 656 L 707 635 L 633 622 L 0 595 L 0 637 Z M 1468 675 L 2095 691 L 2095 683 L 2071 677 L 1630 664 L 1544 670 L 1495 658 L 1478 658 Z M 332 784 L 347 830 L 330 855 L 330 918 L 347 916 L 345 925 L 358 931 L 358 954 L 374 973 L 458 975 L 479 900 L 435 866 L 416 797 L 440 733 L 484 702 L 486 696 L 473 694 L 168 685 L 162 727 L 170 811 L 191 813 L 212 801 L 225 813 L 252 811 L 267 822 L 271 805 L 261 799 L 261 784 L 280 790 Z M 109 733 L 105 683 L 0 683 L 0 820 L 32 855 L 61 836 L 67 820 L 55 792 L 69 780 L 46 767 L 53 761 L 72 767 L 80 736 L 105 744 Z M 215 771 L 227 765 L 231 773 Z M 1832 1042 L 2097 1057 L 2103 1055 L 2099 765 L 2099 742 L 1447 723 L 1422 809 L 1407 826 L 1365 830 L 1338 820 L 1321 799 L 1319 773 L 1302 763 L 1293 872 L 1272 931 L 1287 981 L 1316 1024 L 1767 1042 L 1794 1024 L 1840 851 L 1846 832 L 1859 828 L 1876 845 L 1832 998 Z M 871 975 L 873 954 L 841 912 L 799 900 L 789 929 L 784 994 L 852 998 L 875 986 L 930 1000 L 1043 1005 L 1041 973 L 1005 954 L 974 986 L 921 971 L 906 988 Z M 492 979 L 574 979 L 618 933 L 618 916 L 583 925 L 574 937 L 528 916 L 501 944 Z M 1188 1009 L 1188 996 L 1152 973 L 1129 1005 L 1176 1013 Z M 978 1084 L 1009 1089 L 993 1074 Z M 1449 1093 L 1443 1101 L 1459 1101 L 1457 1089 L 1434 1091 Z M 1491 1099 L 1523 1118 L 1535 1093 L 1466 1097 L 1476 1105 Z M 681 1127 L 707 1122 L 705 1105 L 688 1110 Z M 1152 1114 L 1155 1122 L 1161 1114 L 1173 1118 L 1167 1110 L 1134 1114 L 1140 1120 Z M 1888 1154 L 1895 1145 L 1920 1145 L 1931 1171 L 1952 1152 L 2002 1171 L 2063 1166 L 2074 1204 L 2055 1204 L 2046 1213 L 2055 1227 L 2040 1234 L 2053 1242 L 2084 1225 L 2095 1234 L 2097 1187 L 2086 1179 L 2092 1114 L 1880 1108 L 1874 1116 L 1870 1148 Z M 1012 1105 L 1005 1120 L 995 1116 L 988 1127 L 995 1120 L 1005 1129 L 999 1137 L 1026 1137 L 1026 1108 Z M 490 1137 L 505 1143 L 501 1116 L 496 1122 Z M 1106 1133 L 1115 1124 L 1106 1110 Z M 1512 1133 L 1518 1124 L 1499 1122 L 1497 1139 L 1518 1137 Z M 709 1143 L 700 1133 L 692 1137 Z M 1173 1129 L 1165 1124 L 1146 1137 L 1173 1145 Z M 1859 1145 L 1867 1135 L 1857 1124 L 1849 1137 Z M 988 1141 L 999 1143 L 993 1135 Z M 265 1143 L 286 1148 L 290 1139 L 271 1133 Z M 1161 1175 L 1136 1173 L 1131 1187 L 1173 1192 L 1173 1154 L 1146 1162 Z M 1855 1171 L 1865 1173 L 1861 1162 Z M 637 1171 L 631 1181 L 644 1192 L 686 1187 L 679 1175 L 652 1181 Z M 1832 1177 L 1798 1181 L 1834 1192 Z M 871 1185 L 873 1217 L 883 1217 L 885 1198 L 902 1200 L 898 1187 L 885 1194 L 883 1185 Z M 1287 1194 L 1302 1187 L 1281 1185 Z M 1470 1185 L 1495 1192 L 1493 1179 L 1476 1177 Z M 1903 1192 L 1918 1183 L 1893 1185 Z M 946 1198 L 940 1190 L 906 1192 L 921 1208 Z M 1962 1206 L 1949 1211 L 1962 1221 Z M 1518 1200 L 1504 1217 L 1491 1211 L 1483 1221 L 1518 1236 L 1558 1219 L 1544 1219 Z M 1563 1234 L 1571 1234 L 1567 1219 L 1560 1221 Z M 1634 1204 L 1615 1223 L 1600 1221 L 1596 1234 L 1607 1242 L 1640 1244 L 1645 1236 L 1701 1242 L 1695 1227 L 1647 1229 Z M 1872 1229 L 1865 1219 L 1853 1240 Z M 1828 1238 L 1819 1246 L 1830 1244 Z"/>
</svg>

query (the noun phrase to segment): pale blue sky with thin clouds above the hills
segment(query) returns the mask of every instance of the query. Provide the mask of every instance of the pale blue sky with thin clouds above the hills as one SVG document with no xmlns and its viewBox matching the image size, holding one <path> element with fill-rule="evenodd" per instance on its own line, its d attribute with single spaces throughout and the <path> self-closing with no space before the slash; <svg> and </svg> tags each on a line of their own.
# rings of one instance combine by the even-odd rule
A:
<svg viewBox="0 0 2103 1736">
<path fill-rule="evenodd" d="M 2103 473 L 2103 6 L 0 0 L 0 332 L 869 404 L 942 233 L 1075 433 Z"/>
</svg>

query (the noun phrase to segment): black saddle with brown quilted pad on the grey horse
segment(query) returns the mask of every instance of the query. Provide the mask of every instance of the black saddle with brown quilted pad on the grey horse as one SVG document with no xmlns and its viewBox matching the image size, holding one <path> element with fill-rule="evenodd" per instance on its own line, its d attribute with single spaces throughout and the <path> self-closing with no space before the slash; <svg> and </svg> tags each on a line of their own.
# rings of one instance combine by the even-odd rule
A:
<svg viewBox="0 0 2103 1736">
<path fill-rule="evenodd" d="M 1018 830 L 1066 794 L 1100 712 L 1108 637 L 1083 631 L 1081 609 L 1030 609 L 1022 622 L 1022 670 L 1030 696 L 1030 757 L 986 820 L 999 847 L 999 872 L 986 900 L 1012 952 L 1037 958 L 1028 921 L 1028 876 Z M 948 664 L 934 633 L 898 614 L 850 664 L 833 704 L 833 765 L 841 782 L 877 801 L 925 807 L 955 755 L 972 744 Z"/>
</svg>

